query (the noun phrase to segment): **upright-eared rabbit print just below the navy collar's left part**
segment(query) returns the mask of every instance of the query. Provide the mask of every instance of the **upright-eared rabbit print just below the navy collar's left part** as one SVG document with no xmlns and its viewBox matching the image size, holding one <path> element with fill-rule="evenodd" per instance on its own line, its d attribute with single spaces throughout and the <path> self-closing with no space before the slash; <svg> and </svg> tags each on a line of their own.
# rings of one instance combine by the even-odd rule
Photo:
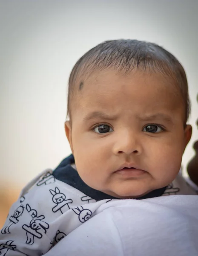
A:
<svg viewBox="0 0 198 256">
<path fill-rule="evenodd" d="M 56 204 L 55 207 L 52 208 L 52 212 L 60 211 L 61 213 L 63 213 L 62 208 L 65 205 L 67 205 L 70 209 L 69 204 L 73 203 L 73 200 L 71 198 L 66 199 L 66 195 L 61 193 L 57 187 L 55 187 L 55 190 L 50 189 L 49 191 L 53 195 L 52 201 Z"/>
</svg>

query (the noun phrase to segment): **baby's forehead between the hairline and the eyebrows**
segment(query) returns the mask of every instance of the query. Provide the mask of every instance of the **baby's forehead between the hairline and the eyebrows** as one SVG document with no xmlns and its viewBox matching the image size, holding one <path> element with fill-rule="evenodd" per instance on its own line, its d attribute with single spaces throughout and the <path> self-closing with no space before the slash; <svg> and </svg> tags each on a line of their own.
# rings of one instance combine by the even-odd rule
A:
<svg viewBox="0 0 198 256">
<path fill-rule="evenodd" d="M 75 98 L 73 113 L 98 109 L 138 113 L 173 111 L 178 107 L 185 112 L 175 81 L 155 71 L 138 70 L 127 74 L 112 69 L 95 71 L 83 80 L 83 87 Z"/>
</svg>

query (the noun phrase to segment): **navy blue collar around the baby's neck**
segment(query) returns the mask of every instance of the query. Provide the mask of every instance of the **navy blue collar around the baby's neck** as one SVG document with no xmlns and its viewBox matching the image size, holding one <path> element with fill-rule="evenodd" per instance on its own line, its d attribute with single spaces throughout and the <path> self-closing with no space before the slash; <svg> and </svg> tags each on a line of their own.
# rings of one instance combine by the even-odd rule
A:
<svg viewBox="0 0 198 256">
<path fill-rule="evenodd" d="M 78 175 L 77 171 L 71 166 L 71 164 L 75 163 L 74 156 L 71 154 L 69 157 L 66 157 L 63 159 L 63 161 L 60 163 L 59 166 L 54 170 L 53 176 L 60 181 L 63 181 L 64 183 L 67 183 L 68 185 L 74 187 L 75 189 L 80 190 L 85 195 L 88 195 L 89 197 L 95 199 L 96 201 L 100 201 L 103 199 L 120 199 L 115 198 L 111 195 L 107 195 L 99 190 L 92 189 L 90 186 L 86 185 L 86 183 L 83 182 L 83 180 Z M 151 192 L 149 192 L 146 195 L 143 195 L 140 198 L 136 199 L 146 199 L 146 198 L 154 198 L 161 196 L 166 187 L 161 189 L 155 189 Z"/>
</svg>

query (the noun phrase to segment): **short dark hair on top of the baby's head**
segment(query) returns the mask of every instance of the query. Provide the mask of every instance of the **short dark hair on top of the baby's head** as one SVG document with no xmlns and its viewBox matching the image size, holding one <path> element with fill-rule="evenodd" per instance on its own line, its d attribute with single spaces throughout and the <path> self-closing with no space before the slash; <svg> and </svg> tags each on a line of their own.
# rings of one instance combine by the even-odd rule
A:
<svg viewBox="0 0 198 256">
<path fill-rule="evenodd" d="M 152 69 L 172 77 L 177 82 L 184 99 L 185 123 L 187 122 L 190 113 L 190 100 L 186 73 L 180 62 L 157 44 L 124 39 L 98 44 L 77 61 L 69 76 L 67 115 L 71 115 L 71 99 L 77 79 L 79 80 L 81 76 L 92 71 L 112 67 L 126 73 L 133 69 Z M 81 85 L 80 81 L 80 87 Z"/>
</svg>

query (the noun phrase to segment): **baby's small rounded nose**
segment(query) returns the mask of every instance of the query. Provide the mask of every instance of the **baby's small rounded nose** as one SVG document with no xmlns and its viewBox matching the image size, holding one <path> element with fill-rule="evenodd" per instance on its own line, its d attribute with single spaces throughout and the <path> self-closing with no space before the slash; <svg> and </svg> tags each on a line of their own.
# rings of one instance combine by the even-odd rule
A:
<svg viewBox="0 0 198 256">
<path fill-rule="evenodd" d="M 116 142 L 113 147 L 114 154 L 141 154 L 141 141 L 137 134 L 132 131 L 125 131 L 122 134 L 117 134 Z"/>
</svg>

